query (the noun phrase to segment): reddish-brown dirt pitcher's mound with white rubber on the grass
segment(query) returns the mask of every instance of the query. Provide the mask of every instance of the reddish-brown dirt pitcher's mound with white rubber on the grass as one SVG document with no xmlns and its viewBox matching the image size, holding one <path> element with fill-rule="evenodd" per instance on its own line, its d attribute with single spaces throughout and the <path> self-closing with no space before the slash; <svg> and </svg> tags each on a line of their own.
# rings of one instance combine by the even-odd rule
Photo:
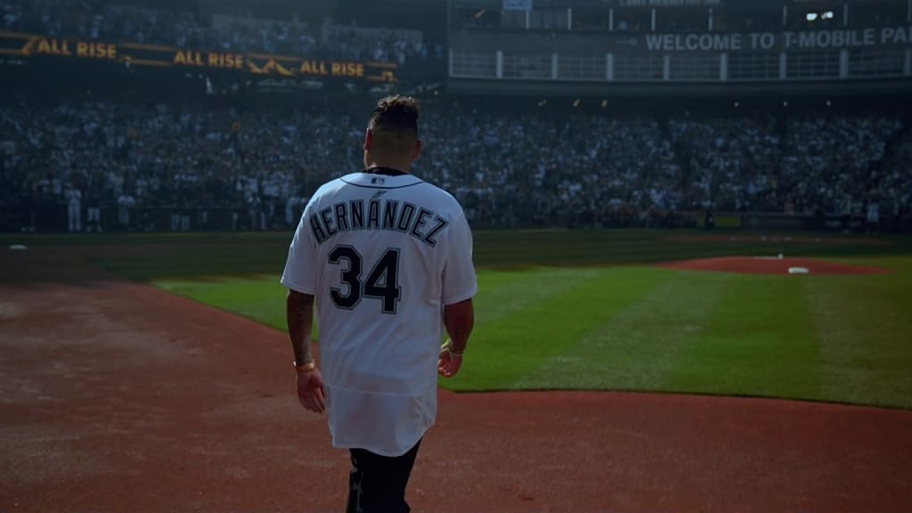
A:
<svg viewBox="0 0 912 513">
<path fill-rule="evenodd" d="M 683 269 L 691 271 L 712 271 L 720 273 L 741 273 L 754 275 L 870 275 L 889 272 L 882 267 L 855 266 L 827 262 L 816 258 L 779 258 L 779 257 L 721 257 L 700 258 L 697 260 L 680 260 L 659 264 L 658 267 Z M 789 272 L 789 269 L 802 268 L 807 272 Z"/>
</svg>

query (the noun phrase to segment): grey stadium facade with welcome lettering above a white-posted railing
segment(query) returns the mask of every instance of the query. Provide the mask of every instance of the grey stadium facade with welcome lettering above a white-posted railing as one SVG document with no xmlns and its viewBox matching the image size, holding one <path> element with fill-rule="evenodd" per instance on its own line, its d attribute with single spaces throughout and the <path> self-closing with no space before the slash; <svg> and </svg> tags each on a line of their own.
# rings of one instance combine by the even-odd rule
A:
<svg viewBox="0 0 912 513">
<path fill-rule="evenodd" d="M 908 78 L 912 22 L 825 30 L 625 35 L 454 30 L 450 76 L 595 82 Z"/>
</svg>

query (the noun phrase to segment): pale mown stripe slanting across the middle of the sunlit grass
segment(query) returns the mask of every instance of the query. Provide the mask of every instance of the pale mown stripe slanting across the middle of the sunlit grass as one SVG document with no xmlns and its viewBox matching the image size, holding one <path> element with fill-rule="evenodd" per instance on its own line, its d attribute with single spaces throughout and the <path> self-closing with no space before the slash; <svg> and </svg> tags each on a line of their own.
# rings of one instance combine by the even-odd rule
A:
<svg viewBox="0 0 912 513">
<path fill-rule="evenodd" d="M 679 354 L 696 343 L 729 275 L 649 269 L 658 285 L 617 311 L 517 388 L 662 390 Z M 610 294 L 611 292 L 607 292 Z M 564 372 L 572 370 L 572 372 Z"/>
</svg>

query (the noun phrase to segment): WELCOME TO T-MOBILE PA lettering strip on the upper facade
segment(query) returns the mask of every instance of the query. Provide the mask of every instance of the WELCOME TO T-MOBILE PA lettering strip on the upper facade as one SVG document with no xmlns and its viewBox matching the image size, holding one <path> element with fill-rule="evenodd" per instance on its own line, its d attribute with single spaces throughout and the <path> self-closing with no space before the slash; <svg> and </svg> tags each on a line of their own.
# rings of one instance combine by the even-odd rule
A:
<svg viewBox="0 0 912 513">
<path fill-rule="evenodd" d="M 619 36 L 617 47 L 659 52 L 695 51 L 766 51 L 814 48 L 859 48 L 908 46 L 912 44 L 912 26 L 846 28 L 794 32 L 730 32 L 645 34 Z"/>
</svg>

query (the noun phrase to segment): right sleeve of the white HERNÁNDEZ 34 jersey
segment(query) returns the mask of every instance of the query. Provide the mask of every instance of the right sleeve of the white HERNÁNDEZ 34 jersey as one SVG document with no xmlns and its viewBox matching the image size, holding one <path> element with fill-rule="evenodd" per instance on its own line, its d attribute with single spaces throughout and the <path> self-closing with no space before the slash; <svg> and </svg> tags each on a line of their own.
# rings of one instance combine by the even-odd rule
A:
<svg viewBox="0 0 912 513">
<path fill-rule="evenodd" d="M 451 221 L 449 232 L 442 280 L 444 305 L 470 299 L 478 292 L 472 264 L 472 229 L 461 209 Z"/>
</svg>

